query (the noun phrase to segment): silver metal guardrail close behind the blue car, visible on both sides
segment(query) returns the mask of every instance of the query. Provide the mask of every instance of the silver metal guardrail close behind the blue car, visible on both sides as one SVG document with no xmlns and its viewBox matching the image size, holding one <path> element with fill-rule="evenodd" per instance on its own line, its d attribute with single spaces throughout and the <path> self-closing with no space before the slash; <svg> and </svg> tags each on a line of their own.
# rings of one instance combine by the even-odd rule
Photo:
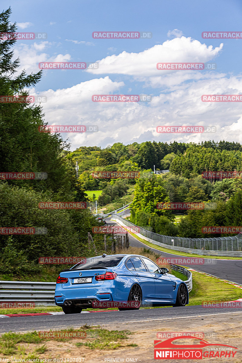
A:
<svg viewBox="0 0 242 363">
<path fill-rule="evenodd" d="M 184 282 L 190 292 L 192 273 L 181 266 L 171 266 L 173 270 L 188 276 Z M 34 302 L 36 306 L 53 306 L 55 288 L 55 282 L 0 281 L 0 302 Z"/>
</svg>

